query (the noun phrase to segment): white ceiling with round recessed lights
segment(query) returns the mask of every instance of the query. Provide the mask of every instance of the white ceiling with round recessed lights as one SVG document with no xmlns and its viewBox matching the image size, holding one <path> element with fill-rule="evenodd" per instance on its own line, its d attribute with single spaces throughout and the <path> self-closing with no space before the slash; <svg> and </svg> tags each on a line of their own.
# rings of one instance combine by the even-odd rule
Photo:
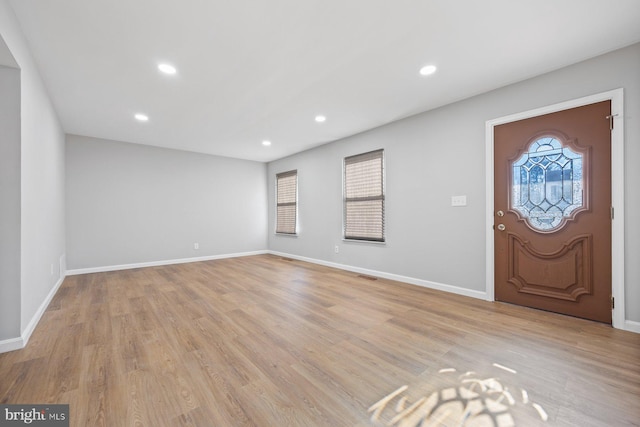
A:
<svg viewBox="0 0 640 427">
<path fill-rule="evenodd" d="M 640 41 L 638 0 L 10 4 L 65 132 L 263 162 Z"/>
</svg>

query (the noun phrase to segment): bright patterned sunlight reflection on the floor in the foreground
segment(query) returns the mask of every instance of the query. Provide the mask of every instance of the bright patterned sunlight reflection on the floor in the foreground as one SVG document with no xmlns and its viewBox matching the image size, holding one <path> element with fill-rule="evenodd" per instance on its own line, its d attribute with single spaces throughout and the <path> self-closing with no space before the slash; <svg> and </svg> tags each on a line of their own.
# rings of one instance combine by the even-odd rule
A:
<svg viewBox="0 0 640 427">
<path fill-rule="evenodd" d="M 517 375 L 516 370 L 498 363 L 493 364 L 492 370 L 495 375 L 492 372 L 486 376 L 455 368 L 440 369 L 433 382 L 438 384 L 434 390 L 412 401 L 411 389 L 404 385 L 371 405 L 371 421 L 393 427 L 529 425 L 531 414 L 520 424 L 516 419 L 523 408 L 533 411 L 540 423 L 547 421 L 547 413 L 531 401 L 527 390 L 509 386 L 509 377 Z"/>
</svg>

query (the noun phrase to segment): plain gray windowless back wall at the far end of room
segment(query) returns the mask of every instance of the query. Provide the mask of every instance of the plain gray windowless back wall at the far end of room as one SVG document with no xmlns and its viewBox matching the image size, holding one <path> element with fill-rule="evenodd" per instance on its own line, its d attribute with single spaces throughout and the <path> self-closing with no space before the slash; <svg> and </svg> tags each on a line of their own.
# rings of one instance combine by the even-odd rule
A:
<svg viewBox="0 0 640 427">
<path fill-rule="evenodd" d="M 264 251 L 265 187 L 264 163 L 68 135 L 68 268 Z"/>
</svg>

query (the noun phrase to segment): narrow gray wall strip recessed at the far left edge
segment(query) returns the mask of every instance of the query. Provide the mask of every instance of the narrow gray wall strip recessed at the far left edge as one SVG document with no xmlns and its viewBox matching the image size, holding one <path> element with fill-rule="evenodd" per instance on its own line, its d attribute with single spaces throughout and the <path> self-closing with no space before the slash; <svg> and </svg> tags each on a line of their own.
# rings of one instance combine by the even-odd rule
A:
<svg viewBox="0 0 640 427">
<path fill-rule="evenodd" d="M 0 66 L 0 341 L 20 335 L 20 70 Z"/>
</svg>

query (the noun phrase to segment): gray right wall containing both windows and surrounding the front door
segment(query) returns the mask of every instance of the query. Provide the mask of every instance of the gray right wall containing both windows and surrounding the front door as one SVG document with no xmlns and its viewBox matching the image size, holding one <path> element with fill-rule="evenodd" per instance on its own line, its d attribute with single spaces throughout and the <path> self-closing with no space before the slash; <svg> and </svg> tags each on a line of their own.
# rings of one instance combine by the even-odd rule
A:
<svg viewBox="0 0 640 427">
<path fill-rule="evenodd" d="M 640 321 L 640 44 L 268 165 L 269 249 L 465 290 L 485 290 L 485 122 L 625 91 L 626 317 Z M 384 148 L 385 245 L 341 240 L 342 159 Z M 297 169 L 300 235 L 274 234 L 275 174 Z M 451 196 L 466 195 L 466 207 Z M 340 252 L 334 253 L 339 245 Z"/>
</svg>

